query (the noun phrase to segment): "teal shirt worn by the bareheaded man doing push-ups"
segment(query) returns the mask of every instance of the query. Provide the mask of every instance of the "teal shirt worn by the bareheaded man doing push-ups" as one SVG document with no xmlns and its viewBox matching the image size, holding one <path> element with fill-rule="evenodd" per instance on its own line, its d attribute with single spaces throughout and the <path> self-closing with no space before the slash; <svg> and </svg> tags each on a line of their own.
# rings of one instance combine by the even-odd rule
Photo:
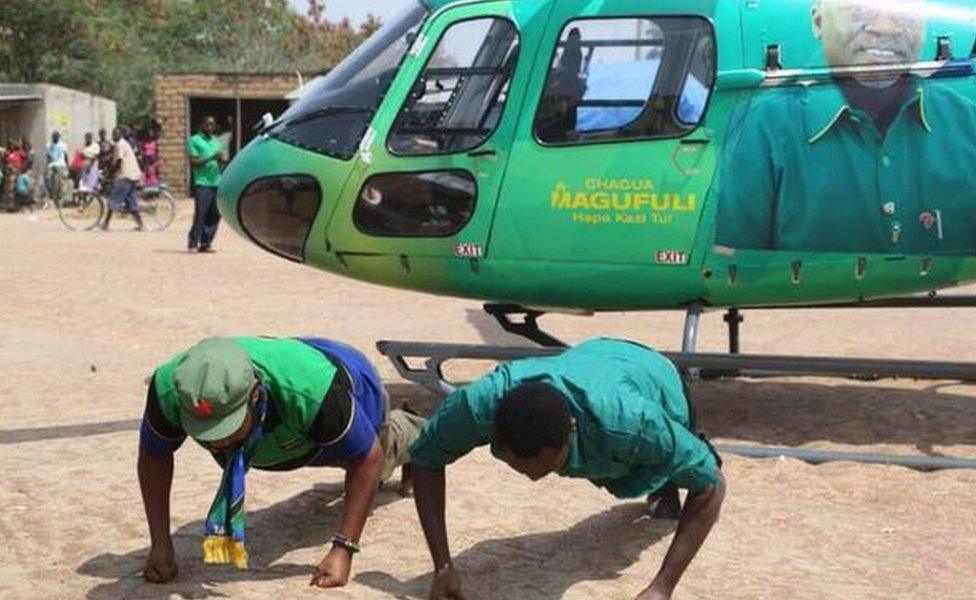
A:
<svg viewBox="0 0 976 600">
<path fill-rule="evenodd" d="M 692 491 L 717 483 L 715 456 L 689 429 L 674 365 L 649 348 L 612 339 L 502 365 L 455 391 L 411 446 L 411 461 L 439 469 L 484 444 L 500 457 L 495 409 L 509 390 L 536 381 L 559 389 L 576 419 L 560 475 L 589 479 L 620 498 L 649 494 L 668 482 Z"/>
</svg>

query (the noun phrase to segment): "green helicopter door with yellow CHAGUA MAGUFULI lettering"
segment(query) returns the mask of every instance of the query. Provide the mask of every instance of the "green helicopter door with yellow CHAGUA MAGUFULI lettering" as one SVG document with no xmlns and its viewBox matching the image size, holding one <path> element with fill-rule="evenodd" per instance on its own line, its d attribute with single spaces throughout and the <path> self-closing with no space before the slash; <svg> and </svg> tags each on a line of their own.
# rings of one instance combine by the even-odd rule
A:
<svg viewBox="0 0 976 600">
<path fill-rule="evenodd" d="M 714 160 L 698 129 L 716 45 L 710 20 L 687 16 L 682 4 L 673 16 L 633 16 L 646 2 L 614 3 L 621 17 L 602 3 L 553 9 L 549 56 L 534 78 L 539 101 L 520 123 L 526 141 L 510 159 L 493 258 L 689 262 Z"/>
</svg>

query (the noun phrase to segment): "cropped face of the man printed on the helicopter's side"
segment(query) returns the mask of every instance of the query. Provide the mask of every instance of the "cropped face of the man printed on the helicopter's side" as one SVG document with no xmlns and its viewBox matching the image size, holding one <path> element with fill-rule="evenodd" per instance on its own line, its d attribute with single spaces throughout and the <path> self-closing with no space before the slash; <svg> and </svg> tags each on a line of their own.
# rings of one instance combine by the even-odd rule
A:
<svg viewBox="0 0 976 600">
<path fill-rule="evenodd" d="M 821 0 L 813 30 L 832 67 L 914 63 L 925 37 L 925 0 Z"/>
</svg>

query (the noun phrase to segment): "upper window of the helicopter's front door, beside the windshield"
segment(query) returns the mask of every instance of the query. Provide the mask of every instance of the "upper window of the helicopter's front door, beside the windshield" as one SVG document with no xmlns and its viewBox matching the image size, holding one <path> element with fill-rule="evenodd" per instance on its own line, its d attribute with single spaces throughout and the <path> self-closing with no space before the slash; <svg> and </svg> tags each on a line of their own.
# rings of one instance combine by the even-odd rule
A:
<svg viewBox="0 0 976 600">
<path fill-rule="evenodd" d="M 501 119 L 518 47 L 518 31 L 505 19 L 451 25 L 397 117 L 390 151 L 451 154 L 483 144 Z"/>
</svg>

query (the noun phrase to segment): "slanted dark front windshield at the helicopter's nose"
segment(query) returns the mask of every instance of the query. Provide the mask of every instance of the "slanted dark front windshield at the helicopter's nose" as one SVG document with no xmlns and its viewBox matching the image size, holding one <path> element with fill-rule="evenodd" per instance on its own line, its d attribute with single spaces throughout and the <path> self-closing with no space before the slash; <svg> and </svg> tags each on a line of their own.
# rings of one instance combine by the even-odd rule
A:
<svg viewBox="0 0 976 600">
<path fill-rule="evenodd" d="M 268 133 L 307 150 L 351 158 L 427 14 L 427 7 L 413 0 L 328 75 L 309 84 Z"/>
</svg>

